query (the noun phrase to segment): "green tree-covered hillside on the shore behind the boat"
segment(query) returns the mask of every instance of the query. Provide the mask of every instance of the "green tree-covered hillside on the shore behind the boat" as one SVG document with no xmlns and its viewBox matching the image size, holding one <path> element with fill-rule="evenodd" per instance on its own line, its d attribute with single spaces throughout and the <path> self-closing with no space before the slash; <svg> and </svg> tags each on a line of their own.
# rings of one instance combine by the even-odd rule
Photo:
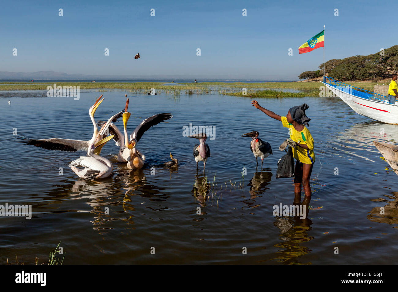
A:
<svg viewBox="0 0 398 292">
<path fill-rule="evenodd" d="M 322 77 L 324 64 L 319 70 L 306 71 L 298 75 L 299 79 Z M 345 59 L 332 59 L 325 62 L 325 75 L 339 81 L 354 81 L 375 78 L 387 78 L 398 72 L 398 45 L 367 56 L 351 56 Z"/>
</svg>

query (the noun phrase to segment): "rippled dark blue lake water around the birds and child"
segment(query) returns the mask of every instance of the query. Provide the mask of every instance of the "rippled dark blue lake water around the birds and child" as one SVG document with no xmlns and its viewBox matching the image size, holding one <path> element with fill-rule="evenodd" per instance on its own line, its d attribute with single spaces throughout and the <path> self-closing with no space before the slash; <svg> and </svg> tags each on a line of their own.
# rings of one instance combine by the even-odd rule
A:
<svg viewBox="0 0 398 292">
<path fill-rule="evenodd" d="M 35 139 L 87 140 L 93 131 L 89 107 L 103 94 L 95 118 L 105 120 L 124 108 L 125 92 L 85 90 L 78 101 L 39 91 L 0 92 L 0 205 L 32 205 L 33 211 L 30 220 L 0 217 L 0 264 L 15 261 L 17 254 L 20 262 L 34 263 L 35 257 L 47 262 L 59 242 L 64 264 L 396 263 L 398 177 L 372 141 L 395 143 L 398 126 L 373 122 L 334 97 L 259 99 L 281 115 L 306 102 L 312 118 L 316 162 L 308 218 L 275 217 L 273 205 L 292 205 L 294 199 L 293 178 L 275 178 L 285 154 L 278 147 L 288 137 L 280 122 L 246 97 L 126 93 L 129 133 L 153 114 L 174 117 L 148 130 L 137 144 L 149 166 L 129 171 L 114 163 L 111 177 L 85 182 L 68 167 L 84 152 L 21 145 L 13 128 Z M 201 188 L 203 164 L 197 173 L 192 155 L 197 140 L 183 136 L 189 123 L 216 129 L 215 139 L 207 140 L 209 191 Z M 122 129 L 121 119 L 118 126 Z M 253 130 L 273 149 L 263 172 L 256 172 L 250 138 L 240 136 Z M 109 141 L 101 155 L 112 159 L 117 152 Z M 170 160 L 170 152 L 178 169 L 155 168 L 151 174 L 152 166 Z M 380 207 L 386 215 L 380 215 Z"/>
</svg>

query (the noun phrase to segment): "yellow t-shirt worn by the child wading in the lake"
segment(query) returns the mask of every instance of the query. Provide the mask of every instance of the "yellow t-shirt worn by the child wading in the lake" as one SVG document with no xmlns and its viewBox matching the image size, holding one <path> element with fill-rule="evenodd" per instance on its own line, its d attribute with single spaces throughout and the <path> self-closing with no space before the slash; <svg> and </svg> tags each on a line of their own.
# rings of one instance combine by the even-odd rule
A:
<svg viewBox="0 0 398 292">
<path fill-rule="evenodd" d="M 308 146 L 310 150 L 304 149 L 300 146 L 296 146 L 296 148 L 292 148 L 293 157 L 298 161 L 305 164 L 312 164 L 315 162 L 315 153 L 314 153 L 314 139 L 311 136 L 310 131 L 304 126 L 302 131 L 297 131 L 293 124 L 287 122 L 287 118 L 285 116 L 281 117 L 282 126 L 289 128 L 290 138 L 300 144 L 305 144 Z"/>
</svg>

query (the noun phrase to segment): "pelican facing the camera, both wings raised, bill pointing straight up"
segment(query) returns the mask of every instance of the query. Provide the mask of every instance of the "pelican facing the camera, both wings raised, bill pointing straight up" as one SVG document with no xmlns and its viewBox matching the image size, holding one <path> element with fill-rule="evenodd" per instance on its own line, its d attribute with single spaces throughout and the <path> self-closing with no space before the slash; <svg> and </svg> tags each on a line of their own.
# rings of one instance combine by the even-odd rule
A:
<svg viewBox="0 0 398 292">
<path fill-rule="evenodd" d="M 105 126 L 104 131 L 109 129 L 109 133 L 115 135 L 113 138 L 115 140 L 115 144 L 120 147 L 119 153 L 117 154 L 117 160 L 119 162 L 127 162 L 127 168 L 129 169 L 140 169 L 144 166 L 145 156 L 136 148 L 137 142 L 141 139 L 145 131 L 152 126 L 159 124 L 160 122 L 170 120 L 172 118 L 172 114 L 165 112 L 146 118 L 137 126 L 137 128 L 135 128 L 134 132 L 130 135 L 129 141 L 129 136 L 127 134 L 127 121 L 129 120 L 131 114 L 127 112 L 128 106 L 129 99 L 126 101 L 125 112 L 122 115 L 124 135 L 115 126 L 115 124 L 109 123 L 109 121 L 107 122 L 108 126 Z M 115 115 L 115 118 L 119 118 L 119 115 Z M 115 120 L 113 120 L 113 122 L 114 121 Z M 98 125 L 103 126 L 105 125 L 105 122 L 98 121 Z"/>
</svg>

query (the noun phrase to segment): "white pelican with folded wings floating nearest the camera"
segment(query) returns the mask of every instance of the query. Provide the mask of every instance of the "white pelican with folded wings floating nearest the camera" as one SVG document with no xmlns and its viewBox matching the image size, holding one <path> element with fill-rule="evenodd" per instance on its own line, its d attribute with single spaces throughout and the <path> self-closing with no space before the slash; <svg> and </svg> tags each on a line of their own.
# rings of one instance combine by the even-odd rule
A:
<svg viewBox="0 0 398 292">
<path fill-rule="evenodd" d="M 70 162 L 68 165 L 72 168 L 73 172 L 79 177 L 85 180 L 92 180 L 96 178 L 107 178 L 111 175 L 113 165 L 105 157 L 96 155 L 94 150 L 97 148 L 102 148 L 102 146 L 113 138 L 113 135 L 108 136 L 104 139 L 100 139 L 100 133 L 98 133 L 95 143 L 90 144 L 87 151 L 87 156 L 80 156 L 78 159 Z M 98 141 L 98 142 L 96 142 Z M 77 168 L 76 166 L 84 167 L 83 169 Z"/>
</svg>

